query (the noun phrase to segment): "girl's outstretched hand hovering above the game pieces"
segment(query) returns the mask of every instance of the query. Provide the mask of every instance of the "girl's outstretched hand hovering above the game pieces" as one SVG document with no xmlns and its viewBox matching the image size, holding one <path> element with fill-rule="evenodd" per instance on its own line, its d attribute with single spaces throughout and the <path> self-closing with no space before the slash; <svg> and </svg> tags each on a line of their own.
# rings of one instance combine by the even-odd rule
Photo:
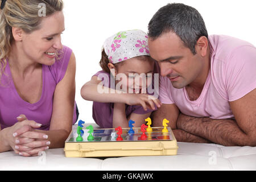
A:
<svg viewBox="0 0 256 182">
<path fill-rule="evenodd" d="M 144 110 L 155 110 L 155 105 L 160 107 L 162 103 L 154 96 L 148 94 L 127 94 L 125 97 L 127 105 L 141 105 Z"/>
</svg>

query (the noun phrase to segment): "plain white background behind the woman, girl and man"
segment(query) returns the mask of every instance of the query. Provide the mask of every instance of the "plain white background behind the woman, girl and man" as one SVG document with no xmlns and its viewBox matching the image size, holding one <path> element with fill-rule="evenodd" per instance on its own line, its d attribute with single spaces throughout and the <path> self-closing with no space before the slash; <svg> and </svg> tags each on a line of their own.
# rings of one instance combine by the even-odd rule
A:
<svg viewBox="0 0 256 182">
<path fill-rule="evenodd" d="M 94 122 L 92 102 L 85 101 L 80 89 L 100 71 L 101 47 L 104 40 L 122 30 L 147 32 L 152 16 L 167 3 L 184 3 L 195 7 L 203 16 L 208 35 L 223 34 L 256 45 L 255 0 L 63 0 L 65 31 L 62 43 L 76 56 L 76 102 L 80 117 Z"/>
</svg>

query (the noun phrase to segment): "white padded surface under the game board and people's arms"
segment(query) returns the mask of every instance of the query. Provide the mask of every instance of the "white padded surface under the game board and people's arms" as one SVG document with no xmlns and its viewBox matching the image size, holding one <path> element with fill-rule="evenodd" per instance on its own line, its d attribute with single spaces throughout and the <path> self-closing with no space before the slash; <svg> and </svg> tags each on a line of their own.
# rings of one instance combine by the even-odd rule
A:
<svg viewBox="0 0 256 182">
<path fill-rule="evenodd" d="M 256 170 L 256 147 L 178 142 L 174 156 L 65 158 L 63 148 L 35 157 L 0 153 L 1 170 Z"/>
</svg>

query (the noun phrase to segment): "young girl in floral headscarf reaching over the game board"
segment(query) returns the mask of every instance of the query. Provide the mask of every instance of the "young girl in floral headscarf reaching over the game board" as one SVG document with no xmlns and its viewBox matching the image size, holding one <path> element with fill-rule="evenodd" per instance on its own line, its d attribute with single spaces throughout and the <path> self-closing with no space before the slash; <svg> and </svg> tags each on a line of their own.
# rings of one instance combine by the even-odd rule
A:
<svg viewBox="0 0 256 182">
<path fill-rule="evenodd" d="M 94 101 L 93 119 L 100 127 L 128 127 L 130 119 L 140 127 L 160 107 L 158 98 L 147 94 L 155 64 L 141 30 L 118 32 L 105 40 L 102 71 L 81 88 L 82 98 Z"/>
</svg>

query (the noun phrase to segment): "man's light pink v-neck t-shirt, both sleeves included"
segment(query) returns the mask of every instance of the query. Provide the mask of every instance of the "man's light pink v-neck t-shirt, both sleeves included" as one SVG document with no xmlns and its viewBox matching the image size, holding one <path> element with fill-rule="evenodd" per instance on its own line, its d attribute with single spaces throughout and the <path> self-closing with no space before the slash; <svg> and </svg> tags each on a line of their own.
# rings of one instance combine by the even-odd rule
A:
<svg viewBox="0 0 256 182">
<path fill-rule="evenodd" d="M 159 100 L 193 117 L 234 118 L 229 102 L 256 88 L 256 48 L 225 35 L 209 36 L 209 43 L 210 71 L 200 97 L 190 101 L 185 88 L 176 89 L 167 77 L 160 76 Z"/>
</svg>

